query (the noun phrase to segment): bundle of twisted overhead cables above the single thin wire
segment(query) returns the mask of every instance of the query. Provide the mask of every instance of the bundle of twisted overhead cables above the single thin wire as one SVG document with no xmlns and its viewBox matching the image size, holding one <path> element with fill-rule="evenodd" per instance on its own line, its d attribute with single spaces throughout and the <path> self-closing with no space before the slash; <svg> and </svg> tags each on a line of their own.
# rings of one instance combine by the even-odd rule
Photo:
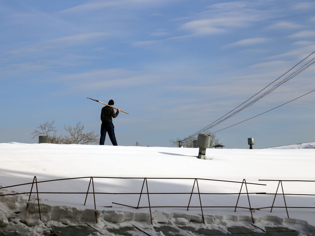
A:
<svg viewBox="0 0 315 236">
<path fill-rule="evenodd" d="M 305 59 L 307 59 L 308 57 L 310 57 L 314 52 L 310 53 L 307 57 L 305 57 L 304 59 L 302 59 L 299 63 L 297 63 L 295 66 L 293 66 L 290 70 L 292 70 L 293 68 L 295 68 L 297 65 L 299 65 L 302 61 L 304 61 Z M 271 93 L 272 91 L 274 91 L 276 88 L 278 88 L 281 84 L 289 81 L 290 79 L 292 79 L 293 77 L 297 76 L 298 74 L 300 74 L 302 71 L 306 70 L 309 66 L 313 65 L 315 63 L 315 57 L 310 59 L 308 62 L 306 62 L 304 65 L 302 65 L 300 68 L 298 68 L 297 70 L 295 70 L 294 72 L 292 72 L 289 76 L 287 76 L 286 78 L 284 78 L 282 81 L 278 82 L 276 85 L 274 85 L 273 87 L 269 88 L 266 92 L 264 92 L 263 94 L 261 94 L 259 97 L 255 98 L 254 100 L 250 101 L 249 103 L 245 104 L 242 108 L 236 110 L 237 108 L 239 108 L 241 105 L 243 105 L 244 103 L 248 102 L 251 98 L 255 97 L 257 94 L 261 93 L 263 90 L 265 90 L 268 86 L 270 86 L 272 83 L 274 83 L 275 81 L 277 81 L 278 79 L 280 79 L 281 77 L 283 77 L 285 74 L 287 74 L 290 70 L 288 70 L 287 72 L 285 72 L 283 75 L 279 76 L 276 80 L 272 81 L 271 83 L 269 83 L 266 87 L 264 87 L 263 89 L 261 89 L 258 93 L 256 93 L 255 95 L 253 95 L 252 97 L 250 97 L 249 99 L 247 99 L 246 101 L 244 101 L 242 104 L 238 105 L 236 108 L 234 108 L 233 110 L 231 110 L 230 112 L 226 113 L 225 115 L 221 116 L 219 119 L 217 119 L 216 121 L 212 122 L 211 124 L 209 124 L 208 126 L 204 127 L 203 129 L 199 130 L 198 132 L 188 136 L 187 138 L 184 138 L 183 140 L 180 140 L 180 143 L 185 143 L 187 140 L 189 140 L 192 137 L 195 137 L 198 133 L 201 132 L 205 132 L 207 130 L 209 130 L 210 128 L 220 124 L 221 122 L 227 120 L 228 118 L 238 114 L 240 111 L 242 111 L 243 109 L 251 106 L 252 104 L 254 104 L 255 102 L 257 102 L 258 100 L 260 100 L 261 98 L 265 97 L 267 94 Z M 236 110 L 235 112 L 233 112 L 234 110 Z M 231 112 L 233 112 L 232 114 L 230 114 Z M 230 114 L 230 115 L 228 115 Z M 227 116 L 228 115 L 228 116 Z"/>
</svg>

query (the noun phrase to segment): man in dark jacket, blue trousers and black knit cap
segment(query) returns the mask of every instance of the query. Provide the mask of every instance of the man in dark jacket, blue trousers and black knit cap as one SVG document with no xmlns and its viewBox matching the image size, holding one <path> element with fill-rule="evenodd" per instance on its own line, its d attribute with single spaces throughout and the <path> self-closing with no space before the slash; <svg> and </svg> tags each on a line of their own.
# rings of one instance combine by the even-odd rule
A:
<svg viewBox="0 0 315 236">
<path fill-rule="evenodd" d="M 117 146 L 112 118 L 117 117 L 120 109 L 117 108 L 117 111 L 115 113 L 113 105 L 114 105 L 114 101 L 112 99 L 109 100 L 108 105 L 102 108 L 102 111 L 100 114 L 100 120 L 102 121 L 102 125 L 100 127 L 100 145 L 105 144 L 106 132 L 108 132 L 108 136 L 111 139 L 112 144 L 114 146 Z"/>
</svg>

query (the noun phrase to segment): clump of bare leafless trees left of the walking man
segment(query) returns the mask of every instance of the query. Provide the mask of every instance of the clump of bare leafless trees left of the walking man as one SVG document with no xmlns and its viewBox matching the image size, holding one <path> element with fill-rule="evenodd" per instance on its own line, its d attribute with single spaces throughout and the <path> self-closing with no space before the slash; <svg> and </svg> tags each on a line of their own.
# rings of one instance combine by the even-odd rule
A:
<svg viewBox="0 0 315 236">
<path fill-rule="evenodd" d="M 94 131 L 83 133 L 84 125 L 79 121 L 76 126 L 64 126 L 65 130 L 69 132 L 70 136 L 57 136 L 57 129 L 53 126 L 54 121 L 45 122 L 40 124 L 37 130 L 34 130 L 31 134 L 32 138 L 35 138 L 39 135 L 48 136 L 48 143 L 56 143 L 56 144 L 89 144 L 89 143 L 98 143 L 99 138 L 98 135 L 95 134 Z"/>
</svg>

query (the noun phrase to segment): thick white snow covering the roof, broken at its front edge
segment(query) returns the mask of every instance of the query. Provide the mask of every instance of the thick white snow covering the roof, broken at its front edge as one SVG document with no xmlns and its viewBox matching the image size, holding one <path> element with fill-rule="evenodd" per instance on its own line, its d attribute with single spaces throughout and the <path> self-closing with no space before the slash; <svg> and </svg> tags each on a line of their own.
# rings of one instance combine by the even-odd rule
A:
<svg viewBox="0 0 315 236">
<path fill-rule="evenodd" d="M 306 208 L 315 207 L 314 148 L 315 142 L 270 149 L 207 149 L 202 160 L 197 158 L 198 148 L 0 143 L 0 227 L 23 222 L 32 227 L 33 235 L 41 235 L 49 225 L 82 223 L 99 228 L 177 224 L 222 229 L 248 226 L 252 214 L 257 227 L 298 226 L 303 232 L 315 232 L 315 210 Z M 34 183 L 28 202 L 35 176 L 37 182 L 79 179 L 37 183 L 37 187 Z M 283 188 L 285 194 L 308 194 L 285 195 L 287 206 L 305 208 L 288 208 L 289 218 L 285 208 L 270 212 L 279 181 L 266 180 L 287 180 L 279 186 L 274 206 L 285 206 Z M 247 184 L 241 188 L 244 181 Z M 25 185 L 9 187 L 19 184 Z M 251 208 L 256 209 L 252 212 L 246 209 L 246 187 L 252 193 Z M 138 202 L 143 208 L 133 208 Z"/>
</svg>

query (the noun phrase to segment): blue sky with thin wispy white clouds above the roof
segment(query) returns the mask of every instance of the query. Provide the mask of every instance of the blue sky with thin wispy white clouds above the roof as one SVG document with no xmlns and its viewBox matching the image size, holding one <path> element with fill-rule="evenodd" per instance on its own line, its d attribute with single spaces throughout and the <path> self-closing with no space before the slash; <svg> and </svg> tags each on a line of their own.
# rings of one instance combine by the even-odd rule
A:
<svg viewBox="0 0 315 236">
<path fill-rule="evenodd" d="M 31 132 L 46 121 L 57 134 L 79 121 L 99 133 L 102 104 L 89 97 L 129 112 L 113 120 L 118 145 L 169 147 L 314 52 L 314 25 L 312 0 L 2 0 L 0 143 L 37 143 Z M 311 92 L 314 73 L 312 65 L 209 131 Z M 247 138 L 254 148 L 314 141 L 314 98 L 216 137 L 246 149 Z"/>
</svg>

